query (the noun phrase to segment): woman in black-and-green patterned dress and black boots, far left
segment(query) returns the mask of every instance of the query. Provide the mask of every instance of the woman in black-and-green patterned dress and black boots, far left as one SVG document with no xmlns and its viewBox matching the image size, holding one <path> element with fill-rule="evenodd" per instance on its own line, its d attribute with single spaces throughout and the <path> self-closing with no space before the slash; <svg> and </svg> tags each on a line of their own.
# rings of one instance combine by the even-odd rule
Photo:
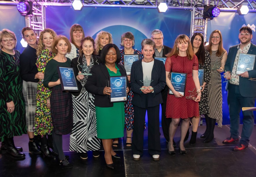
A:
<svg viewBox="0 0 256 177">
<path fill-rule="evenodd" d="M 14 50 L 17 39 L 14 32 L 0 31 L 0 141 L 14 159 L 24 159 L 22 148 L 14 146 L 13 137 L 26 134 L 25 103 L 22 94 L 19 51 Z M 1 147 L 3 150 L 3 147 Z M 3 153 L 3 151 L 2 151 Z"/>
</svg>

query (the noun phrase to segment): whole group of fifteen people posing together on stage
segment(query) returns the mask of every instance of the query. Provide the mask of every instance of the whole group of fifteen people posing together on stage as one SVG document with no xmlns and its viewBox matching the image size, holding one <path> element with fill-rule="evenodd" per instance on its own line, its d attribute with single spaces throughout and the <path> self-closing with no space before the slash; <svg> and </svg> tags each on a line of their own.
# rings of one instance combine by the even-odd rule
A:
<svg viewBox="0 0 256 177">
<path fill-rule="evenodd" d="M 188 139 L 190 120 L 191 145 L 196 143 L 200 117 L 206 121 L 205 133 L 200 136 L 204 143 L 214 139 L 216 123 L 222 127 L 220 73 L 224 71 L 229 80 L 231 133 L 224 144 L 239 140 L 240 110 L 255 104 L 256 66 L 254 70 L 235 74 L 239 53 L 256 54 L 249 27 L 239 30 L 240 44 L 232 46 L 228 55 L 219 30 L 211 33 L 207 46 L 202 34 L 194 33 L 191 40 L 184 34 L 177 36 L 170 48 L 163 45 L 162 31 L 155 29 L 151 39 L 141 42 L 141 51 L 133 49 L 135 38 L 131 32 L 121 36 L 122 50 L 113 44 L 109 32 L 100 31 L 94 40 L 85 37 L 78 24 L 71 27 L 69 40 L 48 28 L 41 31 L 39 40 L 30 27 L 24 27 L 21 32 L 28 43 L 22 54 L 14 50 L 17 39 L 12 31 L 3 29 L 0 34 L 1 152 L 14 159 L 24 159 L 25 154 L 21 147 L 14 145 L 13 137 L 27 133 L 29 152 L 57 157 L 60 165 L 71 168 L 73 165 L 62 149 L 62 135 L 70 134 L 69 149 L 78 152 L 81 159 L 88 158 L 88 151 L 92 151 L 94 158 L 99 157 L 102 142 L 106 165 L 114 169 L 112 158 L 120 159 L 120 156 L 113 147 L 118 146 L 118 138 L 124 136 L 125 128 L 126 146 L 131 146 L 133 160 L 138 161 L 143 154 L 147 111 L 149 154 L 158 161 L 160 104 L 168 153 L 176 155 L 173 138 L 181 122 L 179 152 L 186 155 L 184 141 Z M 130 75 L 123 66 L 125 54 L 139 56 L 132 64 Z M 154 57 L 166 57 L 165 64 Z M 57 66 L 73 68 L 78 92 L 62 91 Z M 82 74 L 83 66 L 87 67 L 87 74 Z M 204 69 L 202 85 L 199 68 Z M 172 72 L 187 74 L 185 94 L 173 87 Z M 112 88 L 106 85 L 110 76 L 127 76 L 126 102 L 110 103 L 108 95 Z M 150 85 L 144 85 L 143 81 Z M 168 94 L 169 90 L 172 94 Z M 190 99 L 191 92 L 196 93 L 193 99 Z M 253 111 L 243 114 L 242 138 L 233 148 L 235 151 L 248 147 L 253 130 Z"/>
</svg>

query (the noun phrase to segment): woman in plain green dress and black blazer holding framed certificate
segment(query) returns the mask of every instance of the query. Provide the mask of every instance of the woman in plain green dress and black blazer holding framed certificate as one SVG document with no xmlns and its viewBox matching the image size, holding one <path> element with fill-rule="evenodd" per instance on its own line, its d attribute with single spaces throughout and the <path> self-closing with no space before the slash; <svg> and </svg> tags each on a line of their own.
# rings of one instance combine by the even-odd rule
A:
<svg viewBox="0 0 256 177">
<path fill-rule="evenodd" d="M 112 92 L 106 86 L 106 80 L 110 76 L 125 76 L 126 71 L 118 63 L 121 60 L 120 51 L 115 44 L 107 44 L 101 51 L 101 64 L 94 65 L 91 69 L 91 76 L 86 82 L 86 90 L 95 94 L 94 104 L 96 107 L 97 137 L 102 139 L 105 151 L 105 161 L 107 167 L 114 169 L 112 157 L 120 159 L 112 149 L 113 138 L 124 136 L 125 110 L 124 102 L 110 103 L 107 95 Z M 129 92 L 129 82 L 127 79 L 126 92 Z"/>
</svg>

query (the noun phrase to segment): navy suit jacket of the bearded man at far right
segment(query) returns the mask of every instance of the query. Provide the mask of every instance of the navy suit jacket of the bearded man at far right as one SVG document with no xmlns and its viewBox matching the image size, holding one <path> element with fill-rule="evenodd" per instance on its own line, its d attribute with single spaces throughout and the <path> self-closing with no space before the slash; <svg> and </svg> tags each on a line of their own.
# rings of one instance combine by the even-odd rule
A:
<svg viewBox="0 0 256 177">
<path fill-rule="evenodd" d="M 231 46 L 229 48 L 229 53 L 227 57 L 227 62 L 225 64 L 225 70 L 230 71 L 232 73 L 233 65 L 235 62 L 235 56 L 238 51 L 238 45 Z M 256 45 L 251 44 L 248 54 L 256 55 Z M 252 81 L 249 79 L 255 78 L 256 79 L 256 62 L 254 63 L 253 70 L 248 71 L 249 78 L 239 77 L 239 90 L 240 94 L 244 97 L 255 97 L 256 96 L 256 81 Z M 227 82 L 228 84 L 228 82 Z M 227 86 L 226 86 L 227 90 Z"/>
</svg>

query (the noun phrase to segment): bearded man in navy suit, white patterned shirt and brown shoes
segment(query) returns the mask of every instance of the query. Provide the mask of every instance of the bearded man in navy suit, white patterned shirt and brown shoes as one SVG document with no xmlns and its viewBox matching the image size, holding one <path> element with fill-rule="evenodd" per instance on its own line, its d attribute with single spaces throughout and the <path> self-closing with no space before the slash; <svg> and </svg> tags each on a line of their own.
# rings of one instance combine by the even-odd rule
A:
<svg viewBox="0 0 256 177">
<path fill-rule="evenodd" d="M 256 46 L 251 43 L 253 37 L 249 27 L 242 27 L 239 30 L 240 44 L 229 48 L 227 62 L 225 64 L 225 77 L 231 79 L 226 89 L 228 90 L 228 106 L 230 117 L 230 137 L 222 143 L 229 144 L 239 140 L 240 111 L 242 107 L 254 107 L 256 98 L 256 62 L 253 70 L 235 74 L 240 53 L 256 55 Z M 242 151 L 248 147 L 249 138 L 253 131 L 254 115 L 253 111 L 243 111 L 243 128 L 239 144 L 234 151 Z"/>
</svg>

